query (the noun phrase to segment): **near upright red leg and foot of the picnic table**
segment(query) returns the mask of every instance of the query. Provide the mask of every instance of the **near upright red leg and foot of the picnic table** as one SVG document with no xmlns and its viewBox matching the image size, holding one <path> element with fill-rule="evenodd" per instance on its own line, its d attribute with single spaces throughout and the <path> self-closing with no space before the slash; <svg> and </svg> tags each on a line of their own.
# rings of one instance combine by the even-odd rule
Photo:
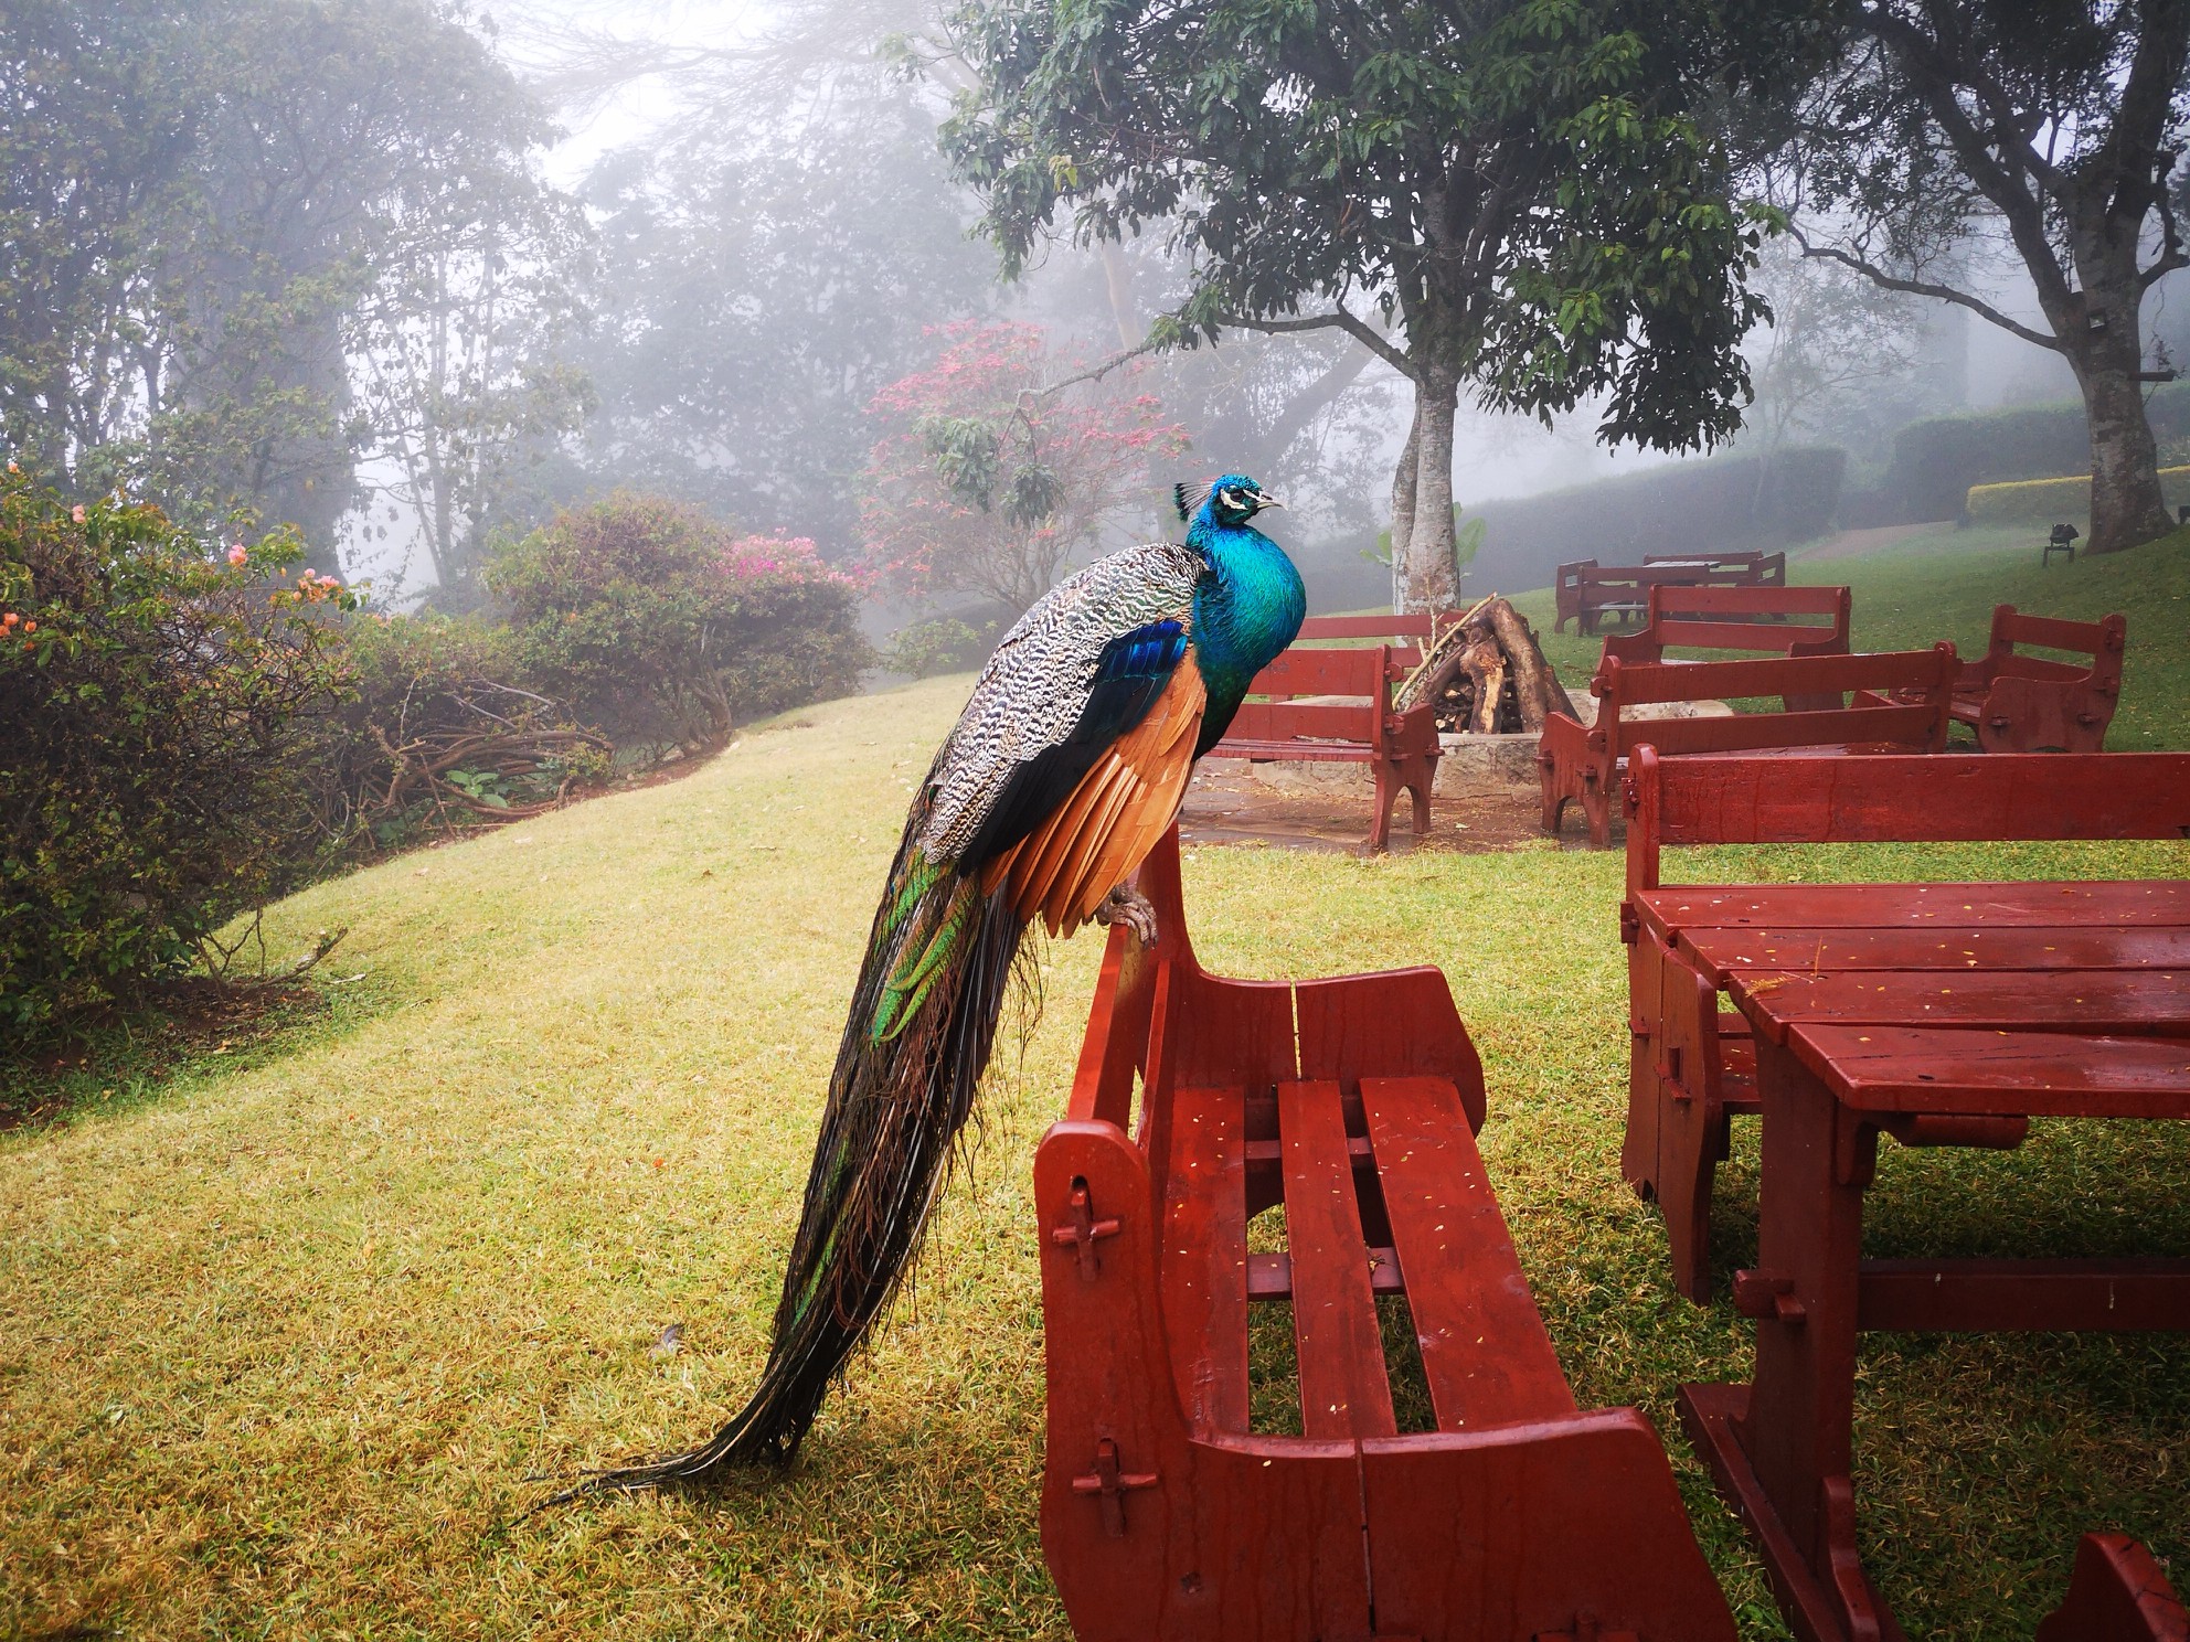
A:
<svg viewBox="0 0 2190 1642">
<path fill-rule="evenodd" d="M 1796 1631 L 1807 1642 L 1894 1642 L 1901 1629 L 1855 1552 L 1848 1482 L 1857 1259 L 1877 1130 L 1763 1038 L 1756 1086 L 1756 1268 L 1734 1279 L 1734 1305 L 1756 1318 L 1756 1373 L 1748 1388 L 1682 1388 L 1682 1412 L 1754 1528 Z"/>
</svg>

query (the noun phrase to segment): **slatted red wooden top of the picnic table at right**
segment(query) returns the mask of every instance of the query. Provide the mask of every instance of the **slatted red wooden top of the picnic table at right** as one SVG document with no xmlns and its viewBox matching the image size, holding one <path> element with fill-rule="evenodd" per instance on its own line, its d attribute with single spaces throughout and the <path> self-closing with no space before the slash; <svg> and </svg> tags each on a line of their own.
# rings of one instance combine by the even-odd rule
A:
<svg viewBox="0 0 2190 1642">
<path fill-rule="evenodd" d="M 1682 884 L 1642 922 L 1848 1106 L 2190 1117 L 2190 882 Z"/>
</svg>

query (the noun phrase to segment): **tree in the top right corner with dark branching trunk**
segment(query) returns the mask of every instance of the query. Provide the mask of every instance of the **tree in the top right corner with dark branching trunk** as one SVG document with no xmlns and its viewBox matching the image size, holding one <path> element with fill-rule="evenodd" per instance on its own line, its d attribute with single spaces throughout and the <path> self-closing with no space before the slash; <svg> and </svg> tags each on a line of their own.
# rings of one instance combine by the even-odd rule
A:
<svg viewBox="0 0 2190 1642">
<path fill-rule="evenodd" d="M 2140 383 L 2140 311 L 2190 267 L 2168 175 L 2190 105 L 2181 0 L 1846 0 L 1833 72 L 1789 105 L 1772 164 L 1805 250 L 1956 302 L 2067 359 L 2091 431 L 2091 552 L 2170 528 Z M 1997 226 L 2037 287 L 2024 324 L 1956 282 Z"/>
</svg>

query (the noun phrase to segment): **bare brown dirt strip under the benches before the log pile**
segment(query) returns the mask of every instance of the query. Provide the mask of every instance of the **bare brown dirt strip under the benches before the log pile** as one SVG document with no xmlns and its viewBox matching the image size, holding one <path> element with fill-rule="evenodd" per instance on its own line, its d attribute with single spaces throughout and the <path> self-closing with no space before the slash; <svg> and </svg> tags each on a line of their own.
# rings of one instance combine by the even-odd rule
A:
<svg viewBox="0 0 2190 1642">
<path fill-rule="evenodd" d="M 1204 764 L 1187 788 L 1178 836 L 1185 843 L 1266 843 L 1360 856 L 1369 852 L 1373 793 L 1369 771 L 1360 771 L 1358 786 L 1318 782 L 1310 788 L 1279 788 L 1246 766 L 1220 771 Z M 1533 786 L 1485 786 L 1437 797 L 1430 801 L 1430 832 L 1417 839 L 1410 825 L 1413 803 L 1402 797 L 1393 812 L 1391 852 L 1480 856 L 1515 849 L 1544 836 L 1540 810 Z"/>
</svg>

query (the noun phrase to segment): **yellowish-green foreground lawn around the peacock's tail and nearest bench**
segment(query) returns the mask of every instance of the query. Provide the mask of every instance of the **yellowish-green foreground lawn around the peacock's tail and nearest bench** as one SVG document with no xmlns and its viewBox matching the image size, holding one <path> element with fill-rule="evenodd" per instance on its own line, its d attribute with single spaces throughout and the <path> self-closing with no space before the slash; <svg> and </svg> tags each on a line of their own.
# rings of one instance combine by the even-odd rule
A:
<svg viewBox="0 0 2190 1642">
<path fill-rule="evenodd" d="M 688 779 L 320 884 L 269 939 L 350 926 L 324 1009 L 155 1086 L 74 1068 L 74 1117 L 0 1136 L 0 1633 L 1067 1635 L 1036 1533 L 1027 1176 L 1091 937 L 1051 948 L 1047 1014 L 999 1055 L 918 1294 L 799 1469 L 519 1519 L 545 1491 L 528 1478 L 681 1445 L 749 1386 L 896 814 L 964 690 L 812 707 Z M 2190 845 L 1929 867 L 2183 874 Z M 1445 968 L 1581 1401 L 1649 1410 L 1745 1633 L 1780 1635 L 1673 1419 L 1680 1381 L 1743 1373 L 1750 1327 L 1673 1294 L 1656 1211 L 1618 1178 L 1618 856 L 1555 849 L 1187 863 L 1213 968 Z M 2010 1156 L 1888 1145 L 1872 1250 L 2190 1254 L 2186 1165 L 2175 1125 L 2050 1123 Z M 1754 1132 L 1721 1180 L 1730 1268 L 1754 1252 Z M 668 1322 L 688 1346 L 657 1357 Z M 2083 1528 L 2190 1568 L 2183 1338 L 1870 1338 L 1857 1397 L 1864 1543 L 1912 1635 L 2028 1635 Z"/>
</svg>

